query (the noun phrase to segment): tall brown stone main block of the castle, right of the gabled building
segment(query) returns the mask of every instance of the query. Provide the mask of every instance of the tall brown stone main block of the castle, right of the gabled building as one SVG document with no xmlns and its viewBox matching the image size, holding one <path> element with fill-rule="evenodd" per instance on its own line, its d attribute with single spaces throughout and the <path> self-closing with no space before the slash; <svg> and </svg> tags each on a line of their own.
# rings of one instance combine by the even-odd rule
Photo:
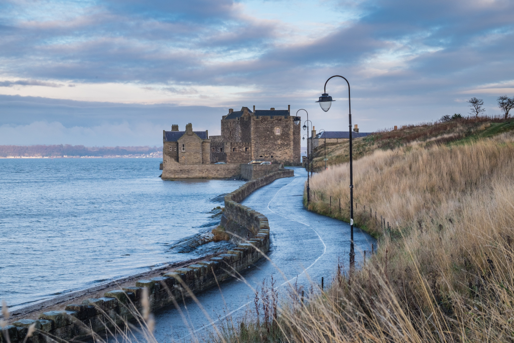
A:
<svg viewBox="0 0 514 343">
<path fill-rule="evenodd" d="M 263 159 L 300 165 L 300 132 L 300 117 L 290 115 L 290 106 L 287 110 L 230 109 L 221 120 L 221 136 L 211 137 L 211 162 Z"/>
</svg>

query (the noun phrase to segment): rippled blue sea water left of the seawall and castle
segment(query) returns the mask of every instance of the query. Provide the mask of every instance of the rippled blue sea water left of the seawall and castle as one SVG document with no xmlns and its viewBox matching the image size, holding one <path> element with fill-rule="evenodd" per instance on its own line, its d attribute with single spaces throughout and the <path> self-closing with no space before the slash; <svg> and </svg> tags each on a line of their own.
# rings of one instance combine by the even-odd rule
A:
<svg viewBox="0 0 514 343">
<path fill-rule="evenodd" d="M 160 173 L 156 158 L 0 159 L 0 299 L 20 308 L 197 257 L 168 245 L 244 182 Z"/>
</svg>

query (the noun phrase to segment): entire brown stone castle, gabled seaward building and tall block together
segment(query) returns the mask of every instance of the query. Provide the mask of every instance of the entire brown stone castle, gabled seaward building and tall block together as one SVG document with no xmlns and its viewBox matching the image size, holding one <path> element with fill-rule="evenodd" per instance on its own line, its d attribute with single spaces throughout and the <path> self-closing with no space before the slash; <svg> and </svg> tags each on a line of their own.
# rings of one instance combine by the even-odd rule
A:
<svg viewBox="0 0 514 343">
<path fill-rule="evenodd" d="M 287 110 L 255 110 L 253 106 L 253 111 L 248 107 L 242 107 L 241 111 L 230 109 L 221 120 L 220 136 L 209 137 L 208 131 L 193 131 L 191 123 L 186 125 L 186 131 L 178 131 L 178 125 L 172 125 L 171 131 L 162 134 L 163 177 L 168 174 L 178 177 L 187 170 L 202 170 L 195 177 L 235 175 L 228 175 L 236 172 L 235 166 L 207 168 L 218 162 L 239 165 L 262 159 L 273 164 L 300 165 L 300 119 L 290 115 L 290 106 Z"/>
</svg>

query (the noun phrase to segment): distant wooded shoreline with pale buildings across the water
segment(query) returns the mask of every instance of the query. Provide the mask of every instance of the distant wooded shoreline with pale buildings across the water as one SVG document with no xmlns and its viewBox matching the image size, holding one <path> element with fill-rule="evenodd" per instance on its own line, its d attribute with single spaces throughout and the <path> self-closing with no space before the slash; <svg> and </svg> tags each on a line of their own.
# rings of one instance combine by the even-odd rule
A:
<svg viewBox="0 0 514 343">
<path fill-rule="evenodd" d="M 0 157 L 114 157 L 155 155 L 162 147 L 84 147 L 66 145 L 0 146 Z M 156 156 L 157 157 L 157 156 Z"/>
</svg>

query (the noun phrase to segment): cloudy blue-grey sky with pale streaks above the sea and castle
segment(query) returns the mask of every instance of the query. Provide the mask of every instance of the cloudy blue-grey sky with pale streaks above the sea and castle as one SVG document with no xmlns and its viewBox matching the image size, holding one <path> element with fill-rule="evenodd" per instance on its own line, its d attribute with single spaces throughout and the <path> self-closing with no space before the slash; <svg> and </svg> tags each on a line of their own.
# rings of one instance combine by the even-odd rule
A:
<svg viewBox="0 0 514 343">
<path fill-rule="evenodd" d="M 0 145 L 159 146 L 229 108 L 361 132 L 514 96 L 510 0 L 2 0 Z M 300 111 L 302 120 L 306 113 Z"/>
</svg>

